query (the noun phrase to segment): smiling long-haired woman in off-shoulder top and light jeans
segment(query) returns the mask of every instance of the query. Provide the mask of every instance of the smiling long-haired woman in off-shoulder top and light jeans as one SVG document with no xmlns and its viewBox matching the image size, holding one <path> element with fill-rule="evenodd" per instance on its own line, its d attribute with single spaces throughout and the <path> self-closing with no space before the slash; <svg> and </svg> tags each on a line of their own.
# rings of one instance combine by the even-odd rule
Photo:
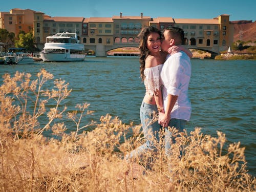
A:
<svg viewBox="0 0 256 192">
<path fill-rule="evenodd" d="M 130 161 L 133 158 L 142 158 L 145 153 L 156 152 L 156 143 L 159 141 L 161 125 L 158 123 L 157 114 L 163 112 L 162 92 L 160 88 L 160 72 L 162 64 L 168 53 L 162 52 L 162 32 L 155 27 L 148 26 L 141 30 L 139 37 L 140 50 L 140 77 L 144 81 L 145 96 L 140 107 L 140 119 L 142 123 L 145 143 L 125 156 Z M 189 50 L 176 47 L 169 52 L 184 51 L 191 56 Z M 172 54 L 170 53 L 170 54 Z M 149 153 L 149 154 L 150 154 Z"/>
</svg>

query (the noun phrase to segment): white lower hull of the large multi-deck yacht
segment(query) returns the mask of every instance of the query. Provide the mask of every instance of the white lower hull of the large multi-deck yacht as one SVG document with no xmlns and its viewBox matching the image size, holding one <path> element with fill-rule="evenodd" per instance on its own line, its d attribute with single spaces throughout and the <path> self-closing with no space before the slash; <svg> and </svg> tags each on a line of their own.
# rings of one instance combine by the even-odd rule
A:
<svg viewBox="0 0 256 192">
<path fill-rule="evenodd" d="M 84 54 L 40 53 L 43 61 L 83 61 Z"/>
</svg>

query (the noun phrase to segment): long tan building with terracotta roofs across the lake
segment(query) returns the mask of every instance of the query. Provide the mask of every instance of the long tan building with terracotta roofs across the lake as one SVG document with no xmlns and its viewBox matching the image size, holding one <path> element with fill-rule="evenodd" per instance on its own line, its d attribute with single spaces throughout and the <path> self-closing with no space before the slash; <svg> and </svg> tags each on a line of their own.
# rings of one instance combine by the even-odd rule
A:
<svg viewBox="0 0 256 192">
<path fill-rule="evenodd" d="M 80 42 L 88 49 L 104 56 L 106 51 L 136 45 L 137 35 L 145 26 L 163 30 L 169 26 L 180 27 L 185 32 L 184 45 L 188 48 L 219 53 L 233 43 L 233 24 L 229 15 L 212 19 L 183 19 L 173 17 L 124 16 L 113 17 L 51 17 L 30 9 L 12 9 L 0 12 L 0 28 L 18 34 L 20 30 L 33 30 L 36 45 L 42 49 L 46 37 L 58 32 L 77 33 Z M 133 44 L 133 45 L 132 45 Z"/>
</svg>

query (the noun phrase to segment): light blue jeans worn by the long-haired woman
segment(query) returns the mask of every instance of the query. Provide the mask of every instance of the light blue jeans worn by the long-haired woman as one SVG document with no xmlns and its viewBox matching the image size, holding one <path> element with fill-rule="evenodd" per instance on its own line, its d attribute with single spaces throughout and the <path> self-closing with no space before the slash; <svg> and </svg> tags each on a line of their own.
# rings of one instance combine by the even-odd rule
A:
<svg viewBox="0 0 256 192">
<path fill-rule="evenodd" d="M 158 119 L 154 119 L 154 114 L 157 115 L 157 113 L 157 105 L 142 102 L 140 106 L 140 120 L 146 141 L 130 152 L 130 154 L 127 154 L 125 157 L 126 160 L 130 158 L 142 158 L 144 154 L 157 150 L 156 143 L 159 142 L 159 131 L 161 129 Z"/>
</svg>

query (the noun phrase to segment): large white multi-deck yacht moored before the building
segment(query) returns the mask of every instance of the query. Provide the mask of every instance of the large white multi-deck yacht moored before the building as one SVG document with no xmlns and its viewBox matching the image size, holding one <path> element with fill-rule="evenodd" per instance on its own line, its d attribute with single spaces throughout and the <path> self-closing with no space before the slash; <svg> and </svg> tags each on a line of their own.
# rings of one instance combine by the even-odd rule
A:
<svg viewBox="0 0 256 192">
<path fill-rule="evenodd" d="M 76 33 L 57 33 L 46 37 L 44 49 L 40 52 L 43 61 L 80 61 L 86 54 Z"/>
</svg>

